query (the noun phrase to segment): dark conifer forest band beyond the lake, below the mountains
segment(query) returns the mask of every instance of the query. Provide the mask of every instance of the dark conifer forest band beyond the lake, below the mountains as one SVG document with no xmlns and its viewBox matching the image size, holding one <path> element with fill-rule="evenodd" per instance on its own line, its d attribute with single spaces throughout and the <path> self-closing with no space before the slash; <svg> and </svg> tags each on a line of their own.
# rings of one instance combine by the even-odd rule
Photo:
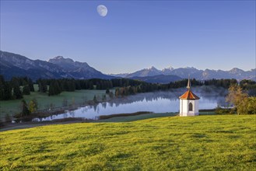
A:
<svg viewBox="0 0 256 171">
<path fill-rule="evenodd" d="M 38 79 L 33 82 L 27 77 L 12 77 L 5 81 L 0 75 L 0 99 L 22 99 L 23 95 L 34 92 L 33 83 L 38 85 L 38 92 L 47 93 L 48 96 L 58 95 L 61 92 L 73 92 L 80 89 L 115 89 L 115 96 L 128 96 L 139 92 L 153 92 L 157 90 L 178 89 L 187 86 L 188 79 L 167 84 L 142 82 L 134 79 Z M 192 86 L 217 86 L 228 89 L 237 84 L 236 79 L 210 79 L 198 81 L 191 79 Z M 251 80 L 240 81 L 242 89 L 248 91 L 250 96 L 256 95 L 256 82 Z"/>
</svg>

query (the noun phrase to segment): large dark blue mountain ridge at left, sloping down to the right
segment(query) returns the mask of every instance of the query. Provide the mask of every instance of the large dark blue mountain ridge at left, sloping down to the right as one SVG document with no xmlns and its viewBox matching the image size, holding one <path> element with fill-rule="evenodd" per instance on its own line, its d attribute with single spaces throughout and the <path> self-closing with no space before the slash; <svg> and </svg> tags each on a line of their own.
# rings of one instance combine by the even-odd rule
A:
<svg viewBox="0 0 256 171">
<path fill-rule="evenodd" d="M 73 61 L 61 56 L 49 61 L 31 60 L 19 54 L 0 51 L 1 75 L 5 79 L 12 76 L 28 76 L 36 79 L 113 79 L 90 67 L 86 62 Z"/>
</svg>

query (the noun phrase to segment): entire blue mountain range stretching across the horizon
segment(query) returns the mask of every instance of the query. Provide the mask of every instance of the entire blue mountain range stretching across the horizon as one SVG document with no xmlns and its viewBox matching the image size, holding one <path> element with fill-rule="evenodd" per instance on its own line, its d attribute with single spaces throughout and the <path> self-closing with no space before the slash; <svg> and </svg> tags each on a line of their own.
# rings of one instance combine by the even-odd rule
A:
<svg viewBox="0 0 256 171">
<path fill-rule="evenodd" d="M 205 79 L 252 79 L 256 80 L 256 69 L 243 71 L 239 68 L 233 68 L 230 71 L 223 70 L 199 70 L 197 68 L 164 68 L 159 70 L 155 67 L 145 68 L 133 73 L 106 75 L 95 68 L 89 66 L 86 62 L 73 61 L 71 58 L 58 56 L 49 61 L 31 60 L 19 54 L 0 51 L 0 72 L 5 79 L 11 79 L 12 76 L 28 76 L 33 80 L 37 79 L 113 79 L 128 78 L 139 79 L 145 82 L 174 82 L 180 79 L 190 78 L 198 80 Z"/>
</svg>

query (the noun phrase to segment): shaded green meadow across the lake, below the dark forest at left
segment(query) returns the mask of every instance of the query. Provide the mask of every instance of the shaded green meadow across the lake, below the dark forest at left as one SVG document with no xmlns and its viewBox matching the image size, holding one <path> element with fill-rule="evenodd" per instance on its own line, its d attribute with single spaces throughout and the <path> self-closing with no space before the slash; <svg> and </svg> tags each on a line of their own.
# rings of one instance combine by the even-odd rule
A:
<svg viewBox="0 0 256 171">
<path fill-rule="evenodd" d="M 77 90 L 75 92 L 61 92 L 61 94 L 57 96 L 48 96 L 47 93 L 37 92 L 38 86 L 35 85 L 35 91 L 31 92 L 30 95 L 23 96 L 26 100 L 26 103 L 29 103 L 31 99 L 37 99 L 39 110 L 44 110 L 49 108 L 51 104 L 54 107 L 62 106 L 63 100 L 67 99 L 68 104 L 72 103 L 84 103 L 88 100 L 92 100 L 94 95 L 99 95 L 100 98 L 103 94 L 105 94 L 106 90 Z M 15 100 L 5 100 L 0 101 L 0 120 L 4 120 L 6 114 L 9 116 L 14 116 L 16 113 L 21 111 L 20 103 L 21 99 Z"/>
</svg>

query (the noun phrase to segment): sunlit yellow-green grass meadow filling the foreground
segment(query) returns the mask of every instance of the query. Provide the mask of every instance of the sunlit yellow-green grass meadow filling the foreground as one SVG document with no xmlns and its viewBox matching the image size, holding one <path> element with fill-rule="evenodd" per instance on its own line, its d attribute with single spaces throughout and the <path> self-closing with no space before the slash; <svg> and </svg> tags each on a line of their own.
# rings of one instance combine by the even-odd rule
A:
<svg viewBox="0 0 256 171">
<path fill-rule="evenodd" d="M 0 133 L 2 170 L 255 170 L 256 116 L 160 117 Z"/>
</svg>

